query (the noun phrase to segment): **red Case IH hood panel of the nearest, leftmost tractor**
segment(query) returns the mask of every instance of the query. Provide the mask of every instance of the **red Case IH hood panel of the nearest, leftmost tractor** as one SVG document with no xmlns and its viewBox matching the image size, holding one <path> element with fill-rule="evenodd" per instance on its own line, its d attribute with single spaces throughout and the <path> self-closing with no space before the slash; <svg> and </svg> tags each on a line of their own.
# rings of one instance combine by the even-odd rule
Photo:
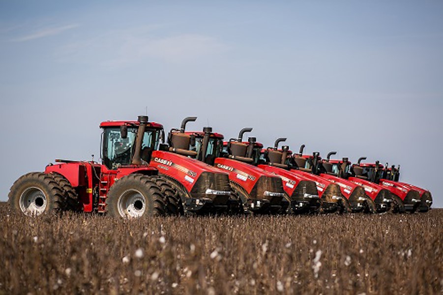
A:
<svg viewBox="0 0 443 295">
<path fill-rule="evenodd" d="M 154 150 L 150 167 L 167 176 L 177 179 L 189 191 L 203 172 L 227 174 L 224 170 L 212 167 L 204 162 L 177 153 Z"/>
</svg>

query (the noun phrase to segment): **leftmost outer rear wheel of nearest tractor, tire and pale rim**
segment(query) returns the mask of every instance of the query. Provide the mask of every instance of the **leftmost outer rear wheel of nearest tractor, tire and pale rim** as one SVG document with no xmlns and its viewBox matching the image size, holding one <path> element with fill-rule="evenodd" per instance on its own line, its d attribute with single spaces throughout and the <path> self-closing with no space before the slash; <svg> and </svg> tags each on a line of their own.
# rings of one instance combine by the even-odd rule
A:
<svg viewBox="0 0 443 295">
<path fill-rule="evenodd" d="M 50 214 L 64 209 L 63 189 L 51 174 L 31 172 L 11 186 L 8 202 L 11 209 L 27 216 Z"/>
</svg>

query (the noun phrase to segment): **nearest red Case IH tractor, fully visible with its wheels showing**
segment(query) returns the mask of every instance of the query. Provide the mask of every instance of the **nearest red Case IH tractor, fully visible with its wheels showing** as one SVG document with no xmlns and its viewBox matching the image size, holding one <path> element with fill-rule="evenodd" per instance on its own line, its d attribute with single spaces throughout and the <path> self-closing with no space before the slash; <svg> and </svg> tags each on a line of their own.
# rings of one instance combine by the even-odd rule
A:
<svg viewBox="0 0 443 295">
<path fill-rule="evenodd" d="M 160 145 L 158 150 L 164 138 L 161 124 L 139 116 L 138 121 L 106 121 L 100 127 L 102 165 L 56 160 L 44 173 L 14 182 L 11 207 L 27 215 L 71 209 L 123 218 L 180 214 L 182 203 L 196 212 L 212 205 L 217 210 L 228 207 L 228 175 L 178 154 L 179 149 L 171 152 Z M 159 169 L 164 175 L 158 175 Z"/>
</svg>

